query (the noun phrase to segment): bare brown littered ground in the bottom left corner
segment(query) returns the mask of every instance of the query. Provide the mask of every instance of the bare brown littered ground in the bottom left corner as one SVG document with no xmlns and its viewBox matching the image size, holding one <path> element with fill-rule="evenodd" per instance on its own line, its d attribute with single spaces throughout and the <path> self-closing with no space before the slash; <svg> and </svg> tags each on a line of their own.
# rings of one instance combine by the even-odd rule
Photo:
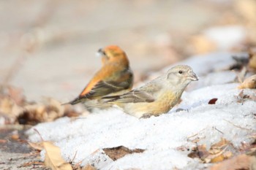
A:
<svg viewBox="0 0 256 170">
<path fill-rule="evenodd" d="M 24 132 L 28 128 L 24 125 L 0 128 L 0 169 L 48 169 L 40 161 L 39 152 L 26 142 Z"/>
</svg>

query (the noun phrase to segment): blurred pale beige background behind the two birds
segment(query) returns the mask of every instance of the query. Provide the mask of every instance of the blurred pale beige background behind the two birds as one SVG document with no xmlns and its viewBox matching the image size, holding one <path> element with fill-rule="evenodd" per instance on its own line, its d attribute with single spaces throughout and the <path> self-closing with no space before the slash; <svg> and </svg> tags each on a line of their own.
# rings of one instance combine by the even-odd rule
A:
<svg viewBox="0 0 256 170">
<path fill-rule="evenodd" d="M 256 42 L 255 0 L 0 1 L 0 84 L 69 101 L 118 45 L 135 82 L 192 55 L 246 51 Z"/>
</svg>

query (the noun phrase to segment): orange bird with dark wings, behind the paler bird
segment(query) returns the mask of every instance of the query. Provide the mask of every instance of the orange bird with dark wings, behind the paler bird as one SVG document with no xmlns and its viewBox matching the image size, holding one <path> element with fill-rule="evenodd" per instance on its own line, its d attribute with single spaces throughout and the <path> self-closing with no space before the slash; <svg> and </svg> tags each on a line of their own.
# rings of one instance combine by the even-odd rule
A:
<svg viewBox="0 0 256 170">
<path fill-rule="evenodd" d="M 124 50 L 117 45 L 109 45 L 100 48 L 97 53 L 102 57 L 102 68 L 94 74 L 79 96 L 66 104 L 86 104 L 87 101 L 99 101 L 103 96 L 132 89 L 133 73 Z"/>
</svg>

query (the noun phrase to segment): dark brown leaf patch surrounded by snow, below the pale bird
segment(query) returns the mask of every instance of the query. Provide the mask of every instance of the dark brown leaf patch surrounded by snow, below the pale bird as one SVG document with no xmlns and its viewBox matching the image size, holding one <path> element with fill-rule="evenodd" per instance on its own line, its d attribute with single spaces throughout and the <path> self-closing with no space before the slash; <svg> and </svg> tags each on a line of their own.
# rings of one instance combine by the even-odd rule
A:
<svg viewBox="0 0 256 170">
<path fill-rule="evenodd" d="M 108 155 L 111 159 L 113 159 L 113 161 L 116 161 L 117 159 L 122 158 L 127 154 L 131 154 L 134 152 L 135 153 L 144 152 L 144 150 L 142 149 L 129 150 L 129 148 L 124 146 L 104 148 L 103 150 L 106 155 Z"/>
</svg>

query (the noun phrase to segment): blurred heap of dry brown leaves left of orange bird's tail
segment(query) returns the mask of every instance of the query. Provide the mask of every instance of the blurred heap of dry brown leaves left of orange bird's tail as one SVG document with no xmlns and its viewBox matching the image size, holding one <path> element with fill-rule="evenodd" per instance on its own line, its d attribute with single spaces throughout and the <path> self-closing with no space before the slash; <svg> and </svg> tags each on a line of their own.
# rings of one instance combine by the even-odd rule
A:
<svg viewBox="0 0 256 170">
<path fill-rule="evenodd" d="M 78 117 L 80 115 L 71 106 L 61 106 L 59 101 L 53 98 L 44 98 L 42 103 L 26 101 L 23 90 L 8 87 L 6 93 L 0 96 L 0 117 L 4 118 L 4 124 L 30 124 L 50 122 L 59 117 Z"/>
</svg>

